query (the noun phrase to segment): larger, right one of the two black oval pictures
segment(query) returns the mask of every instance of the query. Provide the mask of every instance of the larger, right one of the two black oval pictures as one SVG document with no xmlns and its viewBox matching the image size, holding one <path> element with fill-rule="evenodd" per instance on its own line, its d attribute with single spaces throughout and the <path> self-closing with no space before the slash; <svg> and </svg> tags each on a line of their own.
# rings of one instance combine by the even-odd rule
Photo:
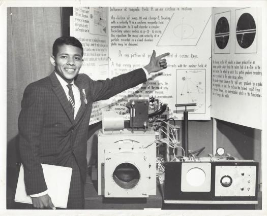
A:
<svg viewBox="0 0 267 216">
<path fill-rule="evenodd" d="M 256 35 L 256 23 L 249 13 L 240 16 L 236 25 L 236 40 L 239 45 L 246 49 L 253 43 Z"/>
</svg>

